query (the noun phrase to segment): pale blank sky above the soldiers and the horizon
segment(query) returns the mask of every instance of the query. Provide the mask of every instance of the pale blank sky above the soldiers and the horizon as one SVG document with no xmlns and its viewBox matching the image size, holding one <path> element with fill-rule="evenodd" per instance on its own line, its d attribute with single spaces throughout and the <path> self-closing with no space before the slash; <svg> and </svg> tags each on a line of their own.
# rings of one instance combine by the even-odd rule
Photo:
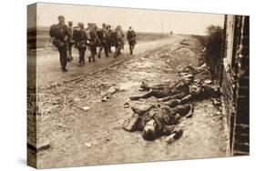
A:
<svg viewBox="0 0 256 171">
<path fill-rule="evenodd" d="M 209 25 L 223 25 L 224 15 L 103 7 L 91 5 L 37 4 L 37 26 L 57 23 L 57 16 L 65 15 L 66 20 L 78 22 L 121 25 L 124 30 L 132 26 L 138 32 L 206 35 Z M 28 27 L 31 21 L 28 20 Z"/>
</svg>

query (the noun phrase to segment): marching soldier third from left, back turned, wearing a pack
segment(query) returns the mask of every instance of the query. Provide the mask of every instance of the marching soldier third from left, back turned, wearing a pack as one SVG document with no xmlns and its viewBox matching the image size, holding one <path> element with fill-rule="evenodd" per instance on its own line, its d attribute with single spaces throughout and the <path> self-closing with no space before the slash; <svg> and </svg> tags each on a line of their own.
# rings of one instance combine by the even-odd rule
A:
<svg viewBox="0 0 256 171">
<path fill-rule="evenodd" d="M 79 52 L 78 65 L 85 65 L 85 54 L 87 50 L 87 33 L 83 23 L 78 23 L 77 28 L 74 29 L 74 40 Z"/>
</svg>

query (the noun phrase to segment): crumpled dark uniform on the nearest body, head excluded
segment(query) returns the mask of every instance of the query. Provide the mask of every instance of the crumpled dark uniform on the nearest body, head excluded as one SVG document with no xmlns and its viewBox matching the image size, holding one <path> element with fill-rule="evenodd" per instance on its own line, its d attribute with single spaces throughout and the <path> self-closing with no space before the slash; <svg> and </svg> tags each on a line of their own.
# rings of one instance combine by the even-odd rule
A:
<svg viewBox="0 0 256 171">
<path fill-rule="evenodd" d="M 123 125 L 127 131 L 143 131 L 142 136 L 144 139 L 154 139 L 158 136 L 169 136 L 175 131 L 175 125 L 178 123 L 180 116 L 185 116 L 189 113 L 191 106 L 175 106 L 170 108 L 164 104 L 156 104 L 149 106 L 145 111 L 139 111 L 131 106 L 135 115 L 128 118 Z M 139 112 L 137 112 L 139 111 Z M 144 134 L 145 126 L 151 120 L 156 124 L 153 137 L 146 137 Z"/>
</svg>

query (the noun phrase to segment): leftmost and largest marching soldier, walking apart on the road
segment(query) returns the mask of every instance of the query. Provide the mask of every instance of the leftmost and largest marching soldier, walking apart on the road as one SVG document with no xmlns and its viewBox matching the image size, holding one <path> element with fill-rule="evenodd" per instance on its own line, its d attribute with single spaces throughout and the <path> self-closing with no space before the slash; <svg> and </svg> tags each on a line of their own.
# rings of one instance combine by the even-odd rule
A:
<svg viewBox="0 0 256 171">
<path fill-rule="evenodd" d="M 59 61 L 61 70 L 67 72 L 67 40 L 70 38 L 67 25 L 65 24 L 65 17 L 59 15 L 57 17 L 58 24 L 52 25 L 50 28 L 50 35 L 54 37 L 54 45 L 56 45 L 59 52 Z"/>
</svg>

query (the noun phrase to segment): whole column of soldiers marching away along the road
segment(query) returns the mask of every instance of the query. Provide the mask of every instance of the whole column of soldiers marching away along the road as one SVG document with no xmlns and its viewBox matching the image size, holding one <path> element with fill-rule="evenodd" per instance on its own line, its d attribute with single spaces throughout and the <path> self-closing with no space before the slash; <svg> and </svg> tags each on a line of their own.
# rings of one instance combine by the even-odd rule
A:
<svg viewBox="0 0 256 171">
<path fill-rule="evenodd" d="M 124 49 L 125 34 L 122 27 L 118 25 L 114 30 L 111 25 L 102 24 L 102 28 L 98 28 L 96 24 L 88 23 L 87 28 L 83 23 L 73 26 L 72 21 L 65 23 L 65 16 L 58 16 L 58 24 L 51 25 L 50 36 L 53 37 L 53 45 L 56 45 L 59 56 L 60 65 L 63 72 L 67 72 L 67 61 L 72 61 L 72 48 L 75 46 L 78 51 L 78 65 L 85 65 L 85 54 L 87 49 L 90 51 L 88 62 L 95 62 L 95 56 L 100 58 L 104 50 L 106 57 L 111 53 L 111 46 L 115 46 L 114 57 L 118 57 L 121 49 Z M 127 39 L 130 55 L 133 54 L 136 42 L 136 34 L 129 26 Z M 98 47 L 98 53 L 97 53 Z"/>
</svg>

